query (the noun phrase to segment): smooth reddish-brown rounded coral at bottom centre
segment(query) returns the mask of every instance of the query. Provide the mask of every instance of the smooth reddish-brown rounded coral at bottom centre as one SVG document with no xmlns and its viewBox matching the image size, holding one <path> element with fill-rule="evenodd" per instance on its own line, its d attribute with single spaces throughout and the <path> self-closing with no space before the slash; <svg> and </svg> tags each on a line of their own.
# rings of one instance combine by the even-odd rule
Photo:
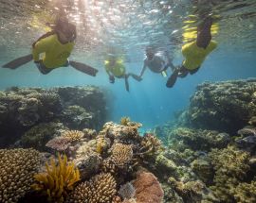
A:
<svg viewBox="0 0 256 203">
<path fill-rule="evenodd" d="M 138 172 L 134 181 L 137 203 L 161 203 L 163 190 L 152 173 Z"/>
</svg>

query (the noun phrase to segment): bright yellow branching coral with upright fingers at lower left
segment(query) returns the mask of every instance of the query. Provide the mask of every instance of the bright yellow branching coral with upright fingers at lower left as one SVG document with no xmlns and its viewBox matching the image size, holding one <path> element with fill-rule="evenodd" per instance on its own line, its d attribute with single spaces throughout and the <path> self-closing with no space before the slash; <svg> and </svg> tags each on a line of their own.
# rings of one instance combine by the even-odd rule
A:
<svg viewBox="0 0 256 203">
<path fill-rule="evenodd" d="M 60 155 L 58 157 L 59 164 L 51 159 L 49 164 L 46 163 L 46 172 L 34 176 L 37 183 L 32 185 L 34 190 L 43 192 L 52 202 L 64 202 L 64 196 L 80 180 L 79 170 L 74 163 L 68 163 L 65 155 L 63 159 Z"/>
</svg>

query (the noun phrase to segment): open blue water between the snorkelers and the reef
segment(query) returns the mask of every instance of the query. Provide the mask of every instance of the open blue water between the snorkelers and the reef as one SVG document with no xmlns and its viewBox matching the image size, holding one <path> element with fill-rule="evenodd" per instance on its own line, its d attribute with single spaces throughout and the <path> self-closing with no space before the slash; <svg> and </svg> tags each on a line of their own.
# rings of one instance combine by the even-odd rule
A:
<svg viewBox="0 0 256 203">
<path fill-rule="evenodd" d="M 122 116 L 129 116 L 132 120 L 142 123 L 143 129 L 151 129 L 172 120 L 175 111 L 185 109 L 198 84 L 204 81 L 256 76 L 254 53 L 237 50 L 223 55 L 225 48 L 229 47 L 219 45 L 205 60 L 199 72 L 193 76 L 178 79 L 173 89 L 165 87 L 167 77 L 154 74 L 150 70 L 145 72 L 141 82 L 130 78 L 130 93 L 127 93 L 123 79 L 116 79 L 115 84 L 110 84 L 101 65 L 97 67 L 100 69 L 97 77 L 86 76 L 69 67 L 54 70 L 51 74 L 44 76 L 32 63 L 14 71 L 0 69 L 0 88 L 3 90 L 10 86 L 46 88 L 74 85 L 101 86 L 111 96 L 107 104 L 110 112 L 108 120 L 119 122 Z M 141 54 L 141 62 L 126 63 L 128 72 L 139 74 L 143 57 Z M 177 59 L 174 59 L 174 64 L 179 64 L 181 61 L 180 54 Z M 170 76 L 170 72 L 168 74 Z"/>
</svg>

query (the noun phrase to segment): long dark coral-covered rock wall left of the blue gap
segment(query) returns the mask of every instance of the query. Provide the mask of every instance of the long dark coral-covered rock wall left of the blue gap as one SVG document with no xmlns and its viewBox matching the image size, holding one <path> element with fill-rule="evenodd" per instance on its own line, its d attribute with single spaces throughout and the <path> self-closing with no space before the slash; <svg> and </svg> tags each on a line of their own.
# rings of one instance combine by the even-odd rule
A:
<svg viewBox="0 0 256 203">
<path fill-rule="evenodd" d="M 96 87 L 9 88 L 0 92 L 0 146 L 13 144 L 41 123 L 99 129 L 105 117 L 104 94 Z"/>
</svg>

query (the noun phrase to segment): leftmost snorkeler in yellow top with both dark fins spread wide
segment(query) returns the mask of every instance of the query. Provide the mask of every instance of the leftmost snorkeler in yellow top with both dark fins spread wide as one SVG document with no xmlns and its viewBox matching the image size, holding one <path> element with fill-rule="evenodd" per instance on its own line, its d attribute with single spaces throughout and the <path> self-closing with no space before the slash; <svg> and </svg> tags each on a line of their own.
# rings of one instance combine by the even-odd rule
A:
<svg viewBox="0 0 256 203">
<path fill-rule="evenodd" d="M 70 65 L 82 73 L 96 76 L 97 69 L 81 62 L 68 60 L 77 37 L 76 26 L 69 23 L 65 16 L 60 16 L 51 28 L 51 31 L 32 44 L 32 55 L 14 59 L 3 67 L 16 69 L 33 59 L 38 70 L 44 75 L 56 68 Z"/>
</svg>

